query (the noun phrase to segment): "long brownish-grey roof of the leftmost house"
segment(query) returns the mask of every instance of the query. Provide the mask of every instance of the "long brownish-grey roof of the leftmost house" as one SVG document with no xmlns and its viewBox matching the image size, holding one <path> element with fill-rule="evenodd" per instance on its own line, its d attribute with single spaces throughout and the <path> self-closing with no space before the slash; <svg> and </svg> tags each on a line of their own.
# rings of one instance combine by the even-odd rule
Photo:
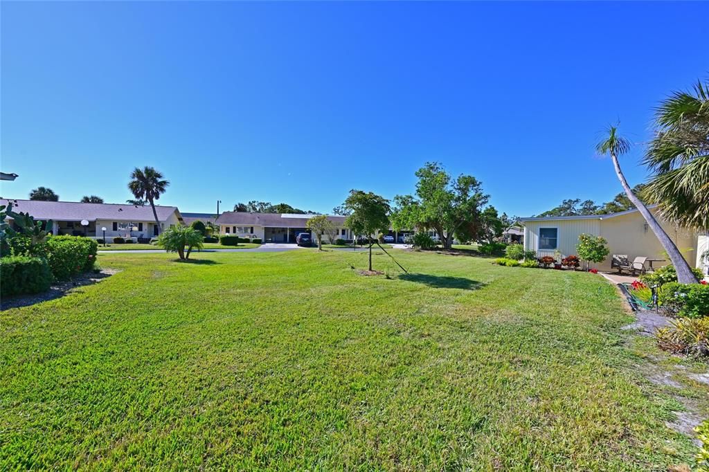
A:
<svg viewBox="0 0 709 472">
<path fill-rule="evenodd" d="M 155 221 L 150 206 L 135 206 L 128 203 L 78 203 L 75 201 L 38 201 L 0 198 L 0 205 L 12 203 L 13 211 L 29 213 L 35 220 L 80 221 Z M 176 206 L 155 206 L 157 219 L 166 221 L 177 212 Z"/>
</svg>

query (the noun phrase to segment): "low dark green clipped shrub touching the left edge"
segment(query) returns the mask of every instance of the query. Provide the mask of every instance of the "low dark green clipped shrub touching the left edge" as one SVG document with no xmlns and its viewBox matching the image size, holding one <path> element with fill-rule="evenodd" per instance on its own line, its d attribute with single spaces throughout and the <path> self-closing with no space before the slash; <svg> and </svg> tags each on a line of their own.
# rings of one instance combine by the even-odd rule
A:
<svg viewBox="0 0 709 472">
<path fill-rule="evenodd" d="M 0 295 L 20 295 L 48 291 L 52 271 L 40 257 L 10 256 L 0 259 Z"/>
</svg>

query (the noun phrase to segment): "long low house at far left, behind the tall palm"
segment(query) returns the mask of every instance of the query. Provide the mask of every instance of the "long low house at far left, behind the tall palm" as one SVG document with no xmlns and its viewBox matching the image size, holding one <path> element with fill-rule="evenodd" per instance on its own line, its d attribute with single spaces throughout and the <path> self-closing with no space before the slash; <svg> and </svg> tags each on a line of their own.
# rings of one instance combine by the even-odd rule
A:
<svg viewBox="0 0 709 472">
<path fill-rule="evenodd" d="M 150 240 L 158 233 L 152 207 L 128 203 L 78 203 L 73 201 L 38 201 L 0 199 L 0 205 L 12 203 L 13 211 L 29 213 L 35 220 L 52 220 L 52 234 L 86 236 L 101 239 L 106 228 L 106 242 L 113 237 Z M 160 232 L 184 224 L 176 206 L 155 206 Z M 8 218 L 8 223 L 11 223 Z M 82 225 L 82 222 L 86 225 Z"/>
</svg>

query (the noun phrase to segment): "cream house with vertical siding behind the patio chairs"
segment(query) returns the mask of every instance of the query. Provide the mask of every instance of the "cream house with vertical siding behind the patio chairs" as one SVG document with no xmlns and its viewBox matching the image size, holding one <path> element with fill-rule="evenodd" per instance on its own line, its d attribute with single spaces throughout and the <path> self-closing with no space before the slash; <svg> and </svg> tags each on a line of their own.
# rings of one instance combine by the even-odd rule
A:
<svg viewBox="0 0 709 472">
<path fill-rule="evenodd" d="M 650 211 L 655 214 L 653 207 Z M 686 261 L 707 274 L 709 267 L 701 256 L 709 247 L 709 236 L 678 227 L 657 215 L 656 218 Z M 537 257 L 554 256 L 557 251 L 564 257 L 576 254 L 579 235 L 587 233 L 608 241 L 610 254 L 601 264 L 595 264 L 597 269 L 610 270 L 613 254 L 625 254 L 631 262 L 638 256 L 660 259 L 652 263 L 654 268 L 670 263 L 664 255 L 664 248 L 637 209 L 608 215 L 520 218 L 520 223 L 524 225 L 524 247 L 536 251 Z"/>
</svg>

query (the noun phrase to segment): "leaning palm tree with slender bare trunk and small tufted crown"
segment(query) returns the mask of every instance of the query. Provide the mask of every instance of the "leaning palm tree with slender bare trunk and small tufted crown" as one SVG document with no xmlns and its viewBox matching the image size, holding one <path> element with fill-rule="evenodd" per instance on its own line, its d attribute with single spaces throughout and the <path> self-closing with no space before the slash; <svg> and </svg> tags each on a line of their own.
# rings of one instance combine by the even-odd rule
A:
<svg viewBox="0 0 709 472">
<path fill-rule="evenodd" d="M 613 167 L 615 167 L 615 175 L 618 176 L 620 185 L 623 186 L 627 198 L 629 198 L 632 204 L 635 205 L 635 208 L 640 211 L 642 217 L 647 221 L 647 225 L 652 232 L 654 232 L 660 244 L 664 247 L 665 252 L 667 252 L 669 259 L 677 271 L 677 281 L 680 283 L 698 283 L 697 277 L 692 273 L 689 264 L 684 260 L 677 246 L 669 238 L 667 233 L 664 232 L 659 223 L 657 223 L 657 220 L 652 213 L 650 213 L 650 210 L 647 209 L 647 206 L 640 201 L 640 198 L 635 196 L 635 193 L 632 193 L 630 185 L 628 185 L 627 180 L 625 180 L 625 175 L 623 175 L 623 171 L 620 169 L 618 156 L 630 150 L 630 142 L 626 140 L 625 137 L 618 135 L 618 128 L 610 126 L 608 127 L 608 137 L 596 145 L 596 150 L 600 154 L 610 154 L 610 159 L 613 159 Z"/>
</svg>

